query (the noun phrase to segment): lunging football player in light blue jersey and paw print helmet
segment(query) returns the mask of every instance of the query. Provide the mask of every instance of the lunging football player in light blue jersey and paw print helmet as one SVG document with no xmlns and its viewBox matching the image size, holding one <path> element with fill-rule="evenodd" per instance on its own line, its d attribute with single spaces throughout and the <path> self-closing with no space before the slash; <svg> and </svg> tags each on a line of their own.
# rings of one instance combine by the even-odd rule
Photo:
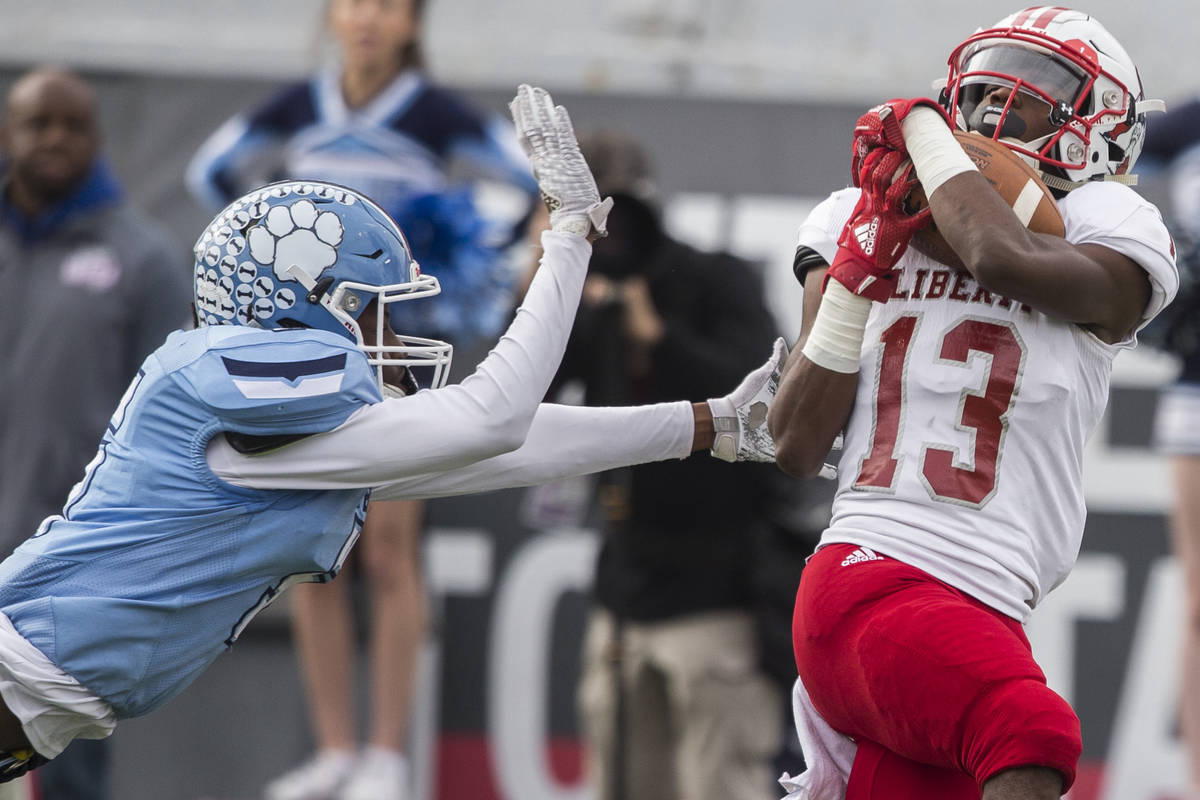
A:
<svg viewBox="0 0 1200 800">
<path fill-rule="evenodd" d="M 198 327 L 130 385 L 61 516 L 0 564 L 0 780 L 186 687 L 287 587 L 332 578 L 368 498 L 527 486 L 684 458 L 773 461 L 784 343 L 730 395 L 542 404 L 605 233 L 570 120 L 522 86 L 514 119 L 551 210 L 544 257 L 494 349 L 445 385 L 451 348 L 394 303 L 437 294 L 395 222 L 341 186 L 238 199 L 196 245 Z M 430 373 L 427 387 L 415 375 Z"/>
</svg>

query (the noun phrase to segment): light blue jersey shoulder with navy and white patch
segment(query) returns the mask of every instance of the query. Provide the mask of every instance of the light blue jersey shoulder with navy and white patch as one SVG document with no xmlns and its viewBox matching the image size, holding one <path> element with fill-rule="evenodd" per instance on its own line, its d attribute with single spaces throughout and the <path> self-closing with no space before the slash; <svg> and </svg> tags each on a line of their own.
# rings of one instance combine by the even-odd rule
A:
<svg viewBox="0 0 1200 800">
<path fill-rule="evenodd" d="M 374 372 L 349 341 L 324 331 L 250 331 L 212 342 L 175 373 L 221 431 L 287 437 L 332 431 L 380 401 Z"/>
</svg>

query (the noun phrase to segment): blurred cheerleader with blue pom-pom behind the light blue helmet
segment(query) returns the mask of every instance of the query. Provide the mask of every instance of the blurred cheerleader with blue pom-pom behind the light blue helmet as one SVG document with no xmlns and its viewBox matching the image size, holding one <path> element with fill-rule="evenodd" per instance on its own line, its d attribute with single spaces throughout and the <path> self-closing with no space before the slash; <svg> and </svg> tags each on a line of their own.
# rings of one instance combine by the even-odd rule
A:
<svg viewBox="0 0 1200 800">
<path fill-rule="evenodd" d="M 512 243 L 536 199 L 511 125 L 430 83 L 424 0 L 332 0 L 338 64 L 221 126 L 196 154 L 188 185 L 214 209 L 270 179 L 350 186 L 400 223 L 437 303 L 402 303 L 392 325 L 463 350 L 490 342 L 511 300 Z M 481 187 L 488 190 L 480 191 Z M 502 197 L 502 210 L 480 198 Z M 505 203 L 504 199 L 508 201 Z M 760 357 L 761 354 L 755 354 Z M 271 800 L 408 796 L 404 757 L 416 658 L 426 630 L 419 501 L 373 503 L 358 549 L 370 602 L 370 729 L 356 752 L 350 583 L 293 591 L 293 630 L 317 752 L 266 789 Z"/>
</svg>

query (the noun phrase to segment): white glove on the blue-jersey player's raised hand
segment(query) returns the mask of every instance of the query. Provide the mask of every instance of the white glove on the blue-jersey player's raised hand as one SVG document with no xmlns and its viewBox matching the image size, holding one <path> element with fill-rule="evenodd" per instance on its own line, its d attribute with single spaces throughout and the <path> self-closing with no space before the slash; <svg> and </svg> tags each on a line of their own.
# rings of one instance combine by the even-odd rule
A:
<svg viewBox="0 0 1200 800">
<path fill-rule="evenodd" d="M 554 106 L 545 89 L 521 84 L 509 110 L 538 179 L 541 199 L 550 209 L 551 229 L 581 236 L 593 230 L 607 235 L 605 222 L 612 198 L 600 200 L 595 178 L 580 152 L 566 109 Z"/>
</svg>

